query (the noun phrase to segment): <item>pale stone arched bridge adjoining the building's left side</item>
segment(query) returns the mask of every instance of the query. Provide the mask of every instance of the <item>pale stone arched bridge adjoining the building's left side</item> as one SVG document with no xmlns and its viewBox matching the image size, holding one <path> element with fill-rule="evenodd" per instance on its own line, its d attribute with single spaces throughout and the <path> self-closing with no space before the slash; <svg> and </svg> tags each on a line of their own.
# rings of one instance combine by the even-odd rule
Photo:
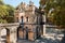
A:
<svg viewBox="0 0 65 43">
<path fill-rule="evenodd" d="M 0 43 L 16 43 L 17 41 L 17 27 L 20 24 L 13 23 L 13 24 L 0 24 Z M 2 30 L 6 30 L 5 32 Z M 3 35 L 3 32 L 6 33 Z M 5 41 L 3 38 L 5 37 Z"/>
</svg>

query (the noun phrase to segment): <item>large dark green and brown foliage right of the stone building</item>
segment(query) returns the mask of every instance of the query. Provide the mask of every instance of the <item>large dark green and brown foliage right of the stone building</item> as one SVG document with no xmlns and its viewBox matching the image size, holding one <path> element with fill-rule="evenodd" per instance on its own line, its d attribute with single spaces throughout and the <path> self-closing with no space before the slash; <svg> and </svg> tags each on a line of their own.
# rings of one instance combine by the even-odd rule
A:
<svg viewBox="0 0 65 43">
<path fill-rule="evenodd" d="M 40 1 L 40 5 L 47 5 L 46 13 L 51 15 L 49 19 L 53 24 L 65 28 L 65 0 L 47 0 L 46 3 Z M 54 11 L 49 13 L 51 9 Z"/>
</svg>

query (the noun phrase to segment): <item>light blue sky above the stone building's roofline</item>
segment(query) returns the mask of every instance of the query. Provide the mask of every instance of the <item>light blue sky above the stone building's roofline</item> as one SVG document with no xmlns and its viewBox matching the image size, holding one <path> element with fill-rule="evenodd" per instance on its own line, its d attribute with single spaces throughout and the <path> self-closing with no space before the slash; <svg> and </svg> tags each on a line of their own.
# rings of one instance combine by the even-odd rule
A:
<svg viewBox="0 0 65 43">
<path fill-rule="evenodd" d="M 39 0 L 31 0 L 34 4 L 38 8 L 39 6 Z M 5 4 L 11 4 L 14 8 L 16 8 L 21 2 L 25 2 L 26 4 L 29 3 L 29 0 L 3 0 Z"/>
</svg>

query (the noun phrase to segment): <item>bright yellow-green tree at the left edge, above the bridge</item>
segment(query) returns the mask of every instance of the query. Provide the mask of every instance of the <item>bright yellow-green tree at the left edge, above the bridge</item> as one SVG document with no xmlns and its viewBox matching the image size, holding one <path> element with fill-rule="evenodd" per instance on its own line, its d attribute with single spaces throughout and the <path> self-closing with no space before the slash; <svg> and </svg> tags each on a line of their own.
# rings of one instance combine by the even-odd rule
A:
<svg viewBox="0 0 65 43">
<path fill-rule="evenodd" d="M 6 23 L 4 17 L 8 15 L 9 15 L 9 12 L 6 12 L 6 6 L 0 5 L 0 23 Z"/>
</svg>

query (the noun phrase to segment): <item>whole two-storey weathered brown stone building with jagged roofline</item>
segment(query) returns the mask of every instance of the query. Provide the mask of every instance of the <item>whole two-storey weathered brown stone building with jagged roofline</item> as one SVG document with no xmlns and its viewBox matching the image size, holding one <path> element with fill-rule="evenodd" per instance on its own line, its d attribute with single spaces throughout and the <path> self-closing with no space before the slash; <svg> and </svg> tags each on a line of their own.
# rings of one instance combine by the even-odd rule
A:
<svg viewBox="0 0 65 43">
<path fill-rule="evenodd" d="M 40 25 L 37 25 L 40 20 L 38 10 L 34 2 L 29 1 L 29 4 L 22 2 L 15 10 L 14 18 L 15 23 L 20 23 L 18 38 L 34 40 L 41 35 Z"/>
</svg>

